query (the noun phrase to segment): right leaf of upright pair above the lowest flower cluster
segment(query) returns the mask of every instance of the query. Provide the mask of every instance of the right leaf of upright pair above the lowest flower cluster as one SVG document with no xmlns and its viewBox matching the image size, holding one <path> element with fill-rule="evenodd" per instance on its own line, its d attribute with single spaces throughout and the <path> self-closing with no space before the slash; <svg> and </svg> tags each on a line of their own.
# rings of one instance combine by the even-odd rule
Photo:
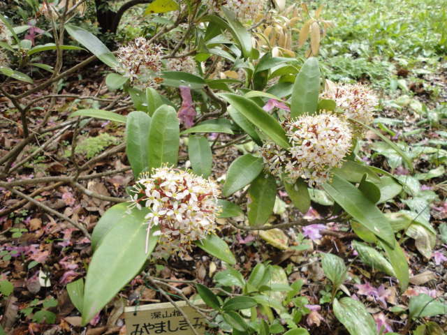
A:
<svg viewBox="0 0 447 335">
<path fill-rule="evenodd" d="M 174 108 L 167 105 L 159 107 L 149 128 L 149 168 L 159 168 L 163 164 L 177 167 L 179 132 L 179 119 Z"/>
</svg>

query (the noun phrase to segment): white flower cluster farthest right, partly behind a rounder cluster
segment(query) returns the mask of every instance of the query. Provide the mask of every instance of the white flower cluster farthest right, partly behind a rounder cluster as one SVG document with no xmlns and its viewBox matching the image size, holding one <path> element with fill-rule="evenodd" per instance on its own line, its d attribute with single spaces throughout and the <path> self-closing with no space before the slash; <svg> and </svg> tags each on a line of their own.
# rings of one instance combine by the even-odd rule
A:
<svg viewBox="0 0 447 335">
<path fill-rule="evenodd" d="M 368 87 L 361 84 L 345 84 L 332 87 L 325 91 L 323 98 L 335 101 L 337 107 L 344 110 L 348 119 L 355 119 L 364 124 L 372 124 L 374 109 L 379 99 Z M 365 133 L 366 128 L 360 124 L 352 124 L 353 132 L 357 136 Z"/>
</svg>

